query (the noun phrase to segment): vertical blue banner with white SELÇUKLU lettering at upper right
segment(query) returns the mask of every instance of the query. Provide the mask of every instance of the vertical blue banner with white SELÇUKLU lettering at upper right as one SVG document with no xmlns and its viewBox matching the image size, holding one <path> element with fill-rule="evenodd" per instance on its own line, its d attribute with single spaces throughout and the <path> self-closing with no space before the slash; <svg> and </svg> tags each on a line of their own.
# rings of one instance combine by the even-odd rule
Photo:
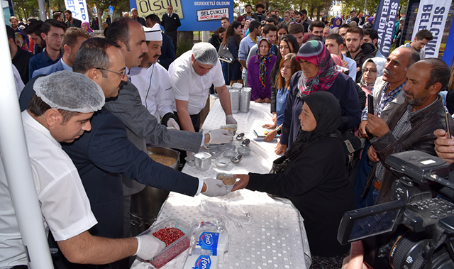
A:
<svg viewBox="0 0 454 269">
<path fill-rule="evenodd" d="M 381 0 L 375 17 L 374 29 L 377 30 L 377 45 L 380 53 L 387 57 L 391 50 L 394 26 L 399 16 L 399 0 Z"/>
</svg>

